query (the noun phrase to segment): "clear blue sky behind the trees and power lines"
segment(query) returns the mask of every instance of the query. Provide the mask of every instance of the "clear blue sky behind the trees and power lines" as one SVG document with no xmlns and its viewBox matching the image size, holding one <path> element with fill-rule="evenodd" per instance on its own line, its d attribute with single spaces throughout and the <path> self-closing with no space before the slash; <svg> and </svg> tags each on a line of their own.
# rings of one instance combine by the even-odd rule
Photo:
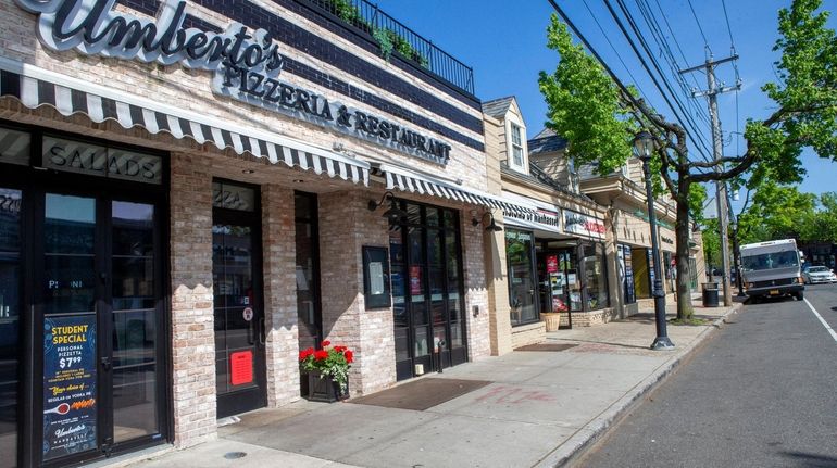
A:
<svg viewBox="0 0 837 468">
<path fill-rule="evenodd" d="M 779 54 L 773 52 L 772 48 L 778 37 L 777 13 L 779 9 L 789 7 L 790 0 L 724 1 L 729 28 L 722 0 L 645 0 L 641 3 L 649 5 L 653 12 L 680 68 L 704 63 L 708 53 L 705 45 L 716 60 L 729 56 L 730 46 L 735 46 L 739 55 L 736 65 L 741 79 L 737 112 L 735 92 L 721 94 L 717 99 L 725 142 L 724 154 L 729 156 L 745 151 L 744 140 L 736 131 L 744 131 L 747 118 L 765 118 L 773 110 L 773 102 L 764 96 L 761 87 L 776 79 L 773 62 Z M 604 1 L 557 0 L 557 3 L 620 79 L 626 85 L 637 85 L 646 99 L 672 121 L 672 111 L 642 69 Z M 616 4 L 615 1 L 612 3 Z M 377 0 L 377 4 L 440 49 L 473 67 L 475 93 L 480 100 L 516 97 L 528 138 L 544 128 L 547 105 L 538 90 L 538 73 L 553 72 L 559 61 L 558 54 L 546 47 L 546 28 L 553 13 L 547 0 Z M 661 49 L 652 40 L 648 25 L 642 20 L 638 9 L 640 0 L 625 0 L 625 4 L 646 35 L 666 77 L 674 84 L 673 73 L 661 58 Z M 694 13 L 690 7 L 694 7 Z M 836 10 L 837 0 L 824 0 L 823 8 Z M 832 14 L 828 27 L 837 28 L 837 15 Z M 689 88 L 705 89 L 705 74 L 692 75 L 687 78 Z M 719 65 L 715 75 L 726 86 L 736 83 L 735 68 L 729 63 Z M 696 128 L 703 134 L 711 149 L 710 126 L 703 119 L 708 116 L 705 98 L 687 97 L 690 89 L 683 91 L 675 88 L 675 92 L 678 92 L 680 101 L 692 115 Z M 695 150 L 690 153 L 698 157 Z M 711 156 L 709 151 L 707 154 Z M 823 160 L 810 150 L 804 152 L 802 162 L 807 175 L 800 185 L 801 191 L 817 194 L 837 191 L 837 162 Z M 744 194 L 741 201 L 733 202 L 736 211 L 740 210 L 742 199 Z"/>
</svg>

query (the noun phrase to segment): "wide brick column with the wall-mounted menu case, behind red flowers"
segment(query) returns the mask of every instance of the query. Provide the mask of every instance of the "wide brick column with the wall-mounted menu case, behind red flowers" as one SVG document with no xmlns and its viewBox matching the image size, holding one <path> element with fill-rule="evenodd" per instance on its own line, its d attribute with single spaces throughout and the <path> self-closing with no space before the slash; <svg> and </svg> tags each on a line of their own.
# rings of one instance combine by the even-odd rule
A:
<svg viewBox="0 0 837 468">
<path fill-rule="evenodd" d="M 320 195 L 320 264 L 323 336 L 349 346 L 352 396 L 396 382 L 392 308 L 366 309 L 363 301 L 363 245 L 389 249 L 389 223 L 366 207 L 379 194 L 359 191 Z"/>
</svg>

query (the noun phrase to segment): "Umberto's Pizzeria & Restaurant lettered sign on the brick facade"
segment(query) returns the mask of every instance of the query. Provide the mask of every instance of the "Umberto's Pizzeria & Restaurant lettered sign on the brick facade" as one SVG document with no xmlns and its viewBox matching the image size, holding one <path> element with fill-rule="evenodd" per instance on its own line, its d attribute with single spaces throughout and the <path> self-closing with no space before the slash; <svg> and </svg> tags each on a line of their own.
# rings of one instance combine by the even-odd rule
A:
<svg viewBox="0 0 837 468">
<path fill-rule="evenodd" d="M 114 11 L 116 0 L 15 1 L 38 15 L 38 38 L 54 51 L 76 49 L 87 55 L 209 71 L 218 96 L 438 164 L 450 159 L 447 142 L 279 80 L 285 59 L 265 29 L 249 30 L 235 22 L 223 33 L 185 27 L 185 0 L 163 0 L 155 20 Z"/>
</svg>

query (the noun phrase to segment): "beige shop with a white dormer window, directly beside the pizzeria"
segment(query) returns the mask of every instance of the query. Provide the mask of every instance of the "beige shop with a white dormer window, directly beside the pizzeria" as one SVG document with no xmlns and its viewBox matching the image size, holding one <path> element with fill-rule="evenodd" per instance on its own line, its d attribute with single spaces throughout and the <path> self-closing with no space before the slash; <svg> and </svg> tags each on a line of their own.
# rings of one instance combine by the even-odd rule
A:
<svg viewBox="0 0 837 468">
<path fill-rule="evenodd" d="M 608 248 L 604 207 L 530 160 L 516 100 L 488 101 L 483 109 L 489 189 L 529 208 L 495 213 L 502 215 L 503 231 L 487 239 L 501 258 L 492 261 L 489 301 L 498 330 L 492 353 L 502 354 L 542 340 L 544 313 L 563 313 L 562 327 L 603 322 L 612 312 L 615 251 Z"/>
</svg>

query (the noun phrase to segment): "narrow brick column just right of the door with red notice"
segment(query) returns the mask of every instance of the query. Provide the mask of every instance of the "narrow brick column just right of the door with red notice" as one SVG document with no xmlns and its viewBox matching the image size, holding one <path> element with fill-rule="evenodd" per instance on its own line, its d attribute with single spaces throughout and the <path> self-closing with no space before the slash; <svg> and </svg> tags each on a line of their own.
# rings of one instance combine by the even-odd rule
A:
<svg viewBox="0 0 837 468">
<path fill-rule="evenodd" d="M 293 190 L 262 186 L 267 405 L 299 400 Z"/>
</svg>

